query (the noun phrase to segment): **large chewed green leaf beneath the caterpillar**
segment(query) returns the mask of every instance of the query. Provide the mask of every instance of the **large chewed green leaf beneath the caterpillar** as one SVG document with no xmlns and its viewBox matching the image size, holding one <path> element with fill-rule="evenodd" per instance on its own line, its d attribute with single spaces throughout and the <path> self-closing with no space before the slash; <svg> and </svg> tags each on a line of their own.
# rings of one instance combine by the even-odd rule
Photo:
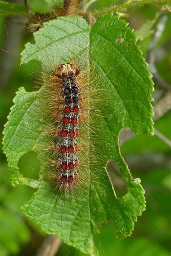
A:
<svg viewBox="0 0 171 256">
<path fill-rule="evenodd" d="M 23 154 L 35 150 L 42 163 L 40 185 L 38 192 L 23 206 L 25 214 L 47 233 L 57 234 L 67 244 L 95 255 L 92 233 L 98 232 L 100 223 L 113 219 L 117 236 L 124 238 L 131 234 L 133 222 L 145 210 L 144 189 L 139 178 L 132 178 L 120 154 L 118 140 L 124 127 L 130 127 L 136 135 L 153 135 L 153 82 L 136 46 L 135 33 L 118 16 L 99 18 L 91 31 L 86 21 L 78 16 L 59 17 L 47 22 L 34 37 L 36 43 L 26 44 L 22 52 L 22 63 L 39 60 L 45 72 L 52 63 L 84 57 L 87 64 L 93 63 L 97 77 L 100 77 L 97 91 L 105 90 L 105 96 L 100 95 L 99 100 L 104 102 L 105 97 L 110 104 L 100 105 L 101 115 L 91 124 L 92 129 L 100 127 L 102 132 L 91 134 L 86 128 L 89 141 L 98 151 L 97 157 L 94 156 L 97 163 L 86 169 L 88 186 L 83 184 L 78 194 L 66 194 L 63 198 L 41 179 L 47 170 L 40 146 L 46 138 L 43 119 L 39 115 L 45 86 L 33 93 L 21 88 L 14 98 L 15 105 L 4 130 L 4 152 L 8 157 L 12 182 L 30 185 L 35 182 L 37 185 L 37 180 L 22 177 L 17 167 Z M 91 157 L 90 153 L 88 151 L 88 157 Z M 118 163 L 128 189 L 121 199 L 115 195 L 106 175 L 104 167 L 109 159 Z M 86 161 L 89 163 L 89 158 L 85 157 Z"/>
</svg>

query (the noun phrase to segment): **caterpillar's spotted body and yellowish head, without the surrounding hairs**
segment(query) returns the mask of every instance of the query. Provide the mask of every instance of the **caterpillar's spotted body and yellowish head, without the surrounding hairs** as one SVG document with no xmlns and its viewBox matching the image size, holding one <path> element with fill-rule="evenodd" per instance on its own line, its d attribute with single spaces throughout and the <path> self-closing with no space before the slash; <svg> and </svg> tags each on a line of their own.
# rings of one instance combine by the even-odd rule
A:
<svg viewBox="0 0 171 256">
<path fill-rule="evenodd" d="M 59 187 L 65 189 L 75 188 L 78 179 L 77 166 L 78 149 L 76 137 L 79 133 L 78 122 L 81 117 L 80 89 L 76 77 L 80 69 L 72 63 L 61 64 L 54 75 L 62 83 L 63 104 L 61 105 L 61 124 L 57 127 L 57 145 L 59 151 L 57 166 L 59 172 L 57 180 Z"/>
</svg>

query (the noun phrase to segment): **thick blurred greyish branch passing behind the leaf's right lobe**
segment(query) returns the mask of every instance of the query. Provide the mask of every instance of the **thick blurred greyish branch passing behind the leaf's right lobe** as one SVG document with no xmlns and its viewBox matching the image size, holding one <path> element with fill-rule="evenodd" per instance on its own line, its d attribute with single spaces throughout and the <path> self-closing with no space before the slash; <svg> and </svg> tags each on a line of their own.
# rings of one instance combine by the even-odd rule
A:
<svg viewBox="0 0 171 256">
<path fill-rule="evenodd" d="M 166 112 L 171 109 L 171 91 L 169 91 L 163 98 L 154 106 L 153 121 L 159 119 Z M 156 134 L 157 135 L 157 134 Z M 125 128 L 119 137 L 119 145 L 121 146 L 125 141 L 135 136 L 135 133 L 130 128 Z"/>
</svg>

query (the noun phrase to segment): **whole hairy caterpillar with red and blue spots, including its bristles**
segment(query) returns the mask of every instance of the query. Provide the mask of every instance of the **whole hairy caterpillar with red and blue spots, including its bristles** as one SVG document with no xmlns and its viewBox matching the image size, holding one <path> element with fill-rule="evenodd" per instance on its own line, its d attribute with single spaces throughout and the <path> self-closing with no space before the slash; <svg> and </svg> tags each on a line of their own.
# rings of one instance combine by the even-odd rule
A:
<svg viewBox="0 0 171 256">
<path fill-rule="evenodd" d="M 45 152 L 50 150 L 49 169 L 53 167 L 44 176 L 53 178 L 58 191 L 70 191 L 80 187 L 79 181 L 86 180 L 86 167 L 95 165 L 94 158 L 97 158 L 93 142 L 88 140 L 86 133 L 89 129 L 91 133 L 94 132 L 91 122 L 94 122 L 95 127 L 94 117 L 98 116 L 96 105 L 97 102 L 98 106 L 100 103 L 98 94 L 102 91 L 97 92 L 95 87 L 98 83 L 95 81 L 95 75 L 92 71 L 91 78 L 88 77 L 89 71 L 84 69 L 84 65 L 76 65 L 74 61 L 60 65 L 53 64 L 53 71 L 44 78 L 47 84 L 45 93 L 48 100 L 45 100 L 42 105 L 47 106 L 47 116 L 51 119 L 45 130 L 49 130 L 47 133 L 52 138 L 48 141 L 50 145 L 45 147 Z M 96 97 L 93 97 L 94 93 Z M 45 118 L 47 116 L 45 115 Z M 96 128 L 97 134 L 98 130 L 99 128 Z M 85 158 L 90 153 L 90 148 L 92 160 L 88 163 Z M 79 163 L 79 158 L 81 163 Z M 79 177 L 78 169 L 81 177 Z"/>
</svg>

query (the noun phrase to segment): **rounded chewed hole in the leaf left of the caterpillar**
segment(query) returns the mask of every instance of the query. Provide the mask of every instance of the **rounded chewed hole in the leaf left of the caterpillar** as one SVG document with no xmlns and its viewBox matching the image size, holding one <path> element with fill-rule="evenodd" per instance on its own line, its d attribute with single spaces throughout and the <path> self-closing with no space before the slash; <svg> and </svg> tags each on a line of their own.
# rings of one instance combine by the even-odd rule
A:
<svg viewBox="0 0 171 256">
<path fill-rule="evenodd" d="M 37 153 L 34 150 L 22 155 L 18 161 L 19 172 L 30 179 L 38 179 L 40 171 L 40 161 L 37 158 Z"/>
</svg>

